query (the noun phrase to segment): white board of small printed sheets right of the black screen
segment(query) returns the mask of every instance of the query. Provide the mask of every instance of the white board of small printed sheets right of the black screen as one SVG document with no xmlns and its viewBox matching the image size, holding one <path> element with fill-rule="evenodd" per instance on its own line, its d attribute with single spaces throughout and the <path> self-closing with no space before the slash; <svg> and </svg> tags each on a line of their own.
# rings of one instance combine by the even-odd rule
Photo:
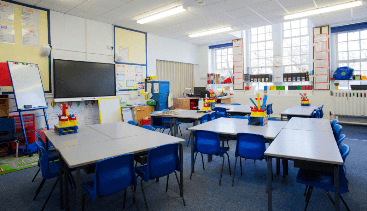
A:
<svg viewBox="0 0 367 211">
<path fill-rule="evenodd" d="M 146 66 L 116 64 L 116 91 L 136 90 L 139 82 L 144 82 Z"/>
</svg>

